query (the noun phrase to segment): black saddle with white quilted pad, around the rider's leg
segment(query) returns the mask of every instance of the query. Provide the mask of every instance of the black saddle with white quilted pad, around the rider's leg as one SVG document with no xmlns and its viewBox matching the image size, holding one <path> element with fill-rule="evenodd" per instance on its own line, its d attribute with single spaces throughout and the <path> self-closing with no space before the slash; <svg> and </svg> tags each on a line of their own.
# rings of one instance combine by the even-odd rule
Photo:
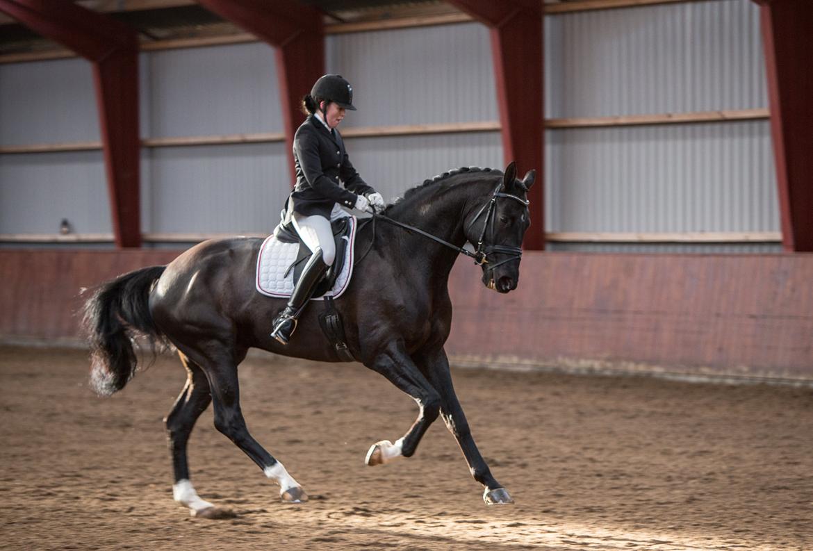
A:
<svg viewBox="0 0 813 551">
<path fill-rule="evenodd" d="M 336 259 L 317 284 L 311 300 L 322 299 L 325 295 L 336 298 L 350 283 L 356 224 L 356 219 L 352 216 L 336 219 L 331 223 L 336 241 Z M 311 254 L 311 249 L 308 249 L 293 228 L 293 222 L 283 219 L 271 236 L 263 241 L 257 256 L 259 293 L 276 298 L 290 297 Z"/>
</svg>

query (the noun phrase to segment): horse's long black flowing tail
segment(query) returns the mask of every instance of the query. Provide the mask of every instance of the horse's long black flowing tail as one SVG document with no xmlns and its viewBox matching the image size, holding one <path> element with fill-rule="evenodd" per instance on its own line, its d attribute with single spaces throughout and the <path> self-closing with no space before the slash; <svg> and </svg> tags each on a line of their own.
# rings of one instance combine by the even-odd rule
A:
<svg viewBox="0 0 813 551">
<path fill-rule="evenodd" d="M 150 289 L 165 266 L 120 275 L 101 284 L 85 302 L 82 325 L 90 345 L 90 385 L 104 396 L 115 393 L 136 373 L 131 336 L 146 336 L 154 345 L 161 332 L 150 315 Z"/>
</svg>

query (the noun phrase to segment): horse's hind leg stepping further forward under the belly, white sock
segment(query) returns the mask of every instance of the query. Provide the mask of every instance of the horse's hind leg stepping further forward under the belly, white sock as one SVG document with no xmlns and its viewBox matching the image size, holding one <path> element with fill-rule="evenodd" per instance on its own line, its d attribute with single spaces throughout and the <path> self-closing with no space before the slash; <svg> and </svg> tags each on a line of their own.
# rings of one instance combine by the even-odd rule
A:
<svg viewBox="0 0 813 551">
<path fill-rule="evenodd" d="M 206 357 L 199 356 L 195 359 L 199 359 L 199 365 L 209 380 L 211 399 L 215 406 L 215 428 L 257 463 L 267 478 L 280 484 L 282 501 L 307 501 L 307 494 L 302 486 L 288 474 L 282 463 L 254 440 L 246 428 L 246 420 L 240 410 L 240 385 L 237 382 L 237 364 L 233 360 L 233 350 L 211 343 L 206 349 Z"/>
</svg>

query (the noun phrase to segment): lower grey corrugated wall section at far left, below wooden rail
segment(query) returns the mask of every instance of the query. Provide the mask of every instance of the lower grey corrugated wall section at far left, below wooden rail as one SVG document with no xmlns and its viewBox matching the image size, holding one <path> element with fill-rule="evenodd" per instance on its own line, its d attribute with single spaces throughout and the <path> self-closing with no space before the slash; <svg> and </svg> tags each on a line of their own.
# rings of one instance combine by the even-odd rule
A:
<svg viewBox="0 0 813 551">
<path fill-rule="evenodd" d="M 111 233 L 101 151 L 0 155 L 0 233 Z"/>
</svg>

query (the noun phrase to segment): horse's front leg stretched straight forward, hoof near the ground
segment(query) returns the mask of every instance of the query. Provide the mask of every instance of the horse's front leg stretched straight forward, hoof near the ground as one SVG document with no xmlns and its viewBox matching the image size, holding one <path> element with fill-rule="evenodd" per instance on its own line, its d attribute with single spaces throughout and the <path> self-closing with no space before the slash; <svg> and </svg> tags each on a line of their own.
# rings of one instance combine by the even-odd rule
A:
<svg viewBox="0 0 813 551">
<path fill-rule="evenodd" d="M 441 396 L 441 416 L 446 422 L 446 427 L 454 435 L 463 455 L 466 457 L 469 470 L 474 479 L 485 486 L 483 501 L 486 505 L 497 505 L 503 503 L 513 503 L 511 495 L 502 484 L 499 484 L 493 475 L 485 459 L 480 455 L 480 450 L 472 438 L 472 431 L 468 427 L 466 414 L 460 406 L 457 394 L 454 393 L 452 376 L 449 370 L 449 359 L 443 349 L 433 354 L 427 354 L 418 358 L 420 366 L 426 373 L 429 382 Z"/>
</svg>

